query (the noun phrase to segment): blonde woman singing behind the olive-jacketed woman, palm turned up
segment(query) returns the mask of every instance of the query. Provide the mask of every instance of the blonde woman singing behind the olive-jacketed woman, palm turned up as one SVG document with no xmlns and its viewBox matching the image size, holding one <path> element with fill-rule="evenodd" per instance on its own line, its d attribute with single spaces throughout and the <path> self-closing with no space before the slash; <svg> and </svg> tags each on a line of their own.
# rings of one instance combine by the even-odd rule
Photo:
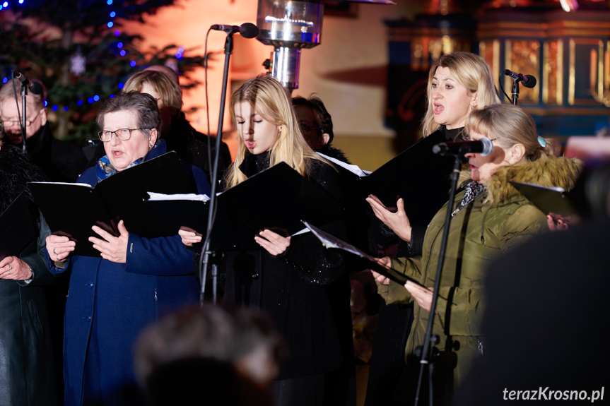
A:
<svg viewBox="0 0 610 406">
<path fill-rule="evenodd" d="M 462 141 L 469 114 L 500 103 L 487 62 L 471 52 L 445 54 L 433 63 L 428 74 L 428 106 L 422 121 L 424 138 L 434 143 Z M 413 191 L 404 198 L 426 199 L 438 205 L 447 199 L 453 167 L 451 157 L 435 156 L 435 185 L 431 190 Z M 417 174 L 405 174 L 415 177 Z M 445 185 L 444 187 L 438 187 Z M 399 198 L 397 210 L 388 210 L 375 196 L 367 198 L 379 219 L 371 227 L 372 239 L 382 246 L 398 243 L 399 257 L 421 256 L 426 224 L 411 224 Z M 433 213 L 430 214 L 432 220 Z M 370 361 L 365 406 L 399 405 L 393 392 L 404 370 L 404 348 L 413 321 L 413 304 L 380 304 L 375 345 Z"/>
</svg>

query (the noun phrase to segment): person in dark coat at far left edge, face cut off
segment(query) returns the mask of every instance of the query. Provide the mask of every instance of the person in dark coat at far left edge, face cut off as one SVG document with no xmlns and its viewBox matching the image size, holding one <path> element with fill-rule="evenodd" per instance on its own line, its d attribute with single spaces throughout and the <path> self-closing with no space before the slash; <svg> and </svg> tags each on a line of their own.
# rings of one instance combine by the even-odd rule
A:
<svg viewBox="0 0 610 406">
<path fill-rule="evenodd" d="M 0 405 L 3 406 L 57 405 L 45 294 L 40 287 L 54 278 L 47 270 L 43 253 L 50 231 L 28 190 L 28 182 L 45 180 L 45 174 L 27 155 L 13 145 L 2 145 L 0 138 L 0 213 L 25 191 L 37 237 L 20 253 L 0 261 Z"/>
</svg>

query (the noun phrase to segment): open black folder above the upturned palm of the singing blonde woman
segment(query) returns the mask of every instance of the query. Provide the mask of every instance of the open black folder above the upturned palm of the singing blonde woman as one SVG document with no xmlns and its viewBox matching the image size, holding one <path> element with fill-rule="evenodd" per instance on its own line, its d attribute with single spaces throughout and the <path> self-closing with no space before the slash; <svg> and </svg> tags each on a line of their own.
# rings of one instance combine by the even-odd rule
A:
<svg viewBox="0 0 610 406">
<path fill-rule="evenodd" d="M 404 210 L 411 224 L 428 225 L 449 199 L 454 158 L 432 152 L 434 145 L 445 141 L 442 133 L 433 133 L 365 176 L 353 165 L 334 162 L 352 190 L 349 196 L 344 196 L 346 204 L 362 202 L 368 208 L 364 199 L 373 194 L 387 208 L 394 208 L 400 196 L 404 198 Z"/>
</svg>

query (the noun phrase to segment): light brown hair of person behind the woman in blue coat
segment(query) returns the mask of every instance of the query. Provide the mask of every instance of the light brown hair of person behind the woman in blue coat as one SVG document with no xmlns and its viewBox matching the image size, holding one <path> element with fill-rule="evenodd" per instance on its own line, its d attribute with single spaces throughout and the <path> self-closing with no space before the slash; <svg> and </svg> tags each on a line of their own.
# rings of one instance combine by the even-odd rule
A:
<svg viewBox="0 0 610 406">
<path fill-rule="evenodd" d="M 172 114 L 180 112 L 180 109 L 182 109 L 182 89 L 162 71 L 145 70 L 134 73 L 125 82 L 123 92 L 127 93 L 131 90 L 141 92 L 145 83 L 150 84 L 158 92 L 165 106 L 175 110 Z"/>
</svg>

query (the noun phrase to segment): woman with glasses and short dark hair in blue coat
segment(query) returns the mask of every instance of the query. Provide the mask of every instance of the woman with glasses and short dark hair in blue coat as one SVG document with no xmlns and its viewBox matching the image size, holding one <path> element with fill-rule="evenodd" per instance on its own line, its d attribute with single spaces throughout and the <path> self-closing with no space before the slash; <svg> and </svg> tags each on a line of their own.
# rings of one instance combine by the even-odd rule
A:
<svg viewBox="0 0 610 406">
<path fill-rule="evenodd" d="M 151 95 L 127 92 L 106 100 L 97 121 L 106 155 L 83 172 L 80 183 L 93 186 L 167 151 L 159 140 L 160 114 Z M 198 193 L 209 194 L 204 172 L 181 164 Z M 49 270 L 71 273 L 64 318 L 65 404 L 140 404 L 133 346 L 141 330 L 164 312 L 197 302 L 193 253 L 177 234 L 146 239 L 130 233 L 123 221 L 119 237 L 92 228 L 98 237 L 89 241 L 101 258 L 71 256 L 74 241 L 47 237 Z"/>
</svg>

